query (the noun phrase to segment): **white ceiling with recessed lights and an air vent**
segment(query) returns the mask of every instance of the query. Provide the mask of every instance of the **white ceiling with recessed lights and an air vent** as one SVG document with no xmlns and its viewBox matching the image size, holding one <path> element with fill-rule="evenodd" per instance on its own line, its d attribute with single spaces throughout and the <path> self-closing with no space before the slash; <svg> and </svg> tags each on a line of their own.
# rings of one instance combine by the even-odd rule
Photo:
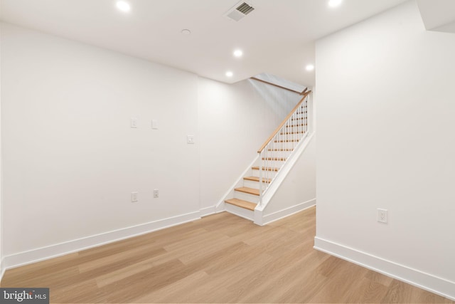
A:
<svg viewBox="0 0 455 304">
<path fill-rule="evenodd" d="M 226 83 L 264 72 L 314 85 L 305 66 L 314 63 L 316 39 L 405 0 L 344 0 L 336 9 L 328 0 L 247 2 L 255 10 L 238 22 L 223 16 L 237 0 L 129 0 L 127 14 L 116 0 L 1 0 L 0 18 Z"/>
</svg>

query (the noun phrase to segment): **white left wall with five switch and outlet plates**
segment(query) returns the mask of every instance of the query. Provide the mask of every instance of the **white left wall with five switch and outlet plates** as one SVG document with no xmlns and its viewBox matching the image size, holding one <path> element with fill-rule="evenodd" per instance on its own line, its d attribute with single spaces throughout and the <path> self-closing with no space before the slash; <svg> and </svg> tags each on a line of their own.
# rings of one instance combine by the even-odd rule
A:
<svg viewBox="0 0 455 304">
<path fill-rule="evenodd" d="M 196 75 L 9 24 L 1 39 L 6 266 L 198 218 Z"/>
</svg>

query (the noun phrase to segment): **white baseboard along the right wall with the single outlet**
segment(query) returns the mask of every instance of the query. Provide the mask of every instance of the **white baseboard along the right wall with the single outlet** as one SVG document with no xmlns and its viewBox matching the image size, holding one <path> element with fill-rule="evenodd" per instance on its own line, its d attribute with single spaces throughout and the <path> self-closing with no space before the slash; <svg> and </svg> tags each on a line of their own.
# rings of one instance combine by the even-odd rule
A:
<svg viewBox="0 0 455 304">
<path fill-rule="evenodd" d="M 405 283 L 417 286 L 418 288 L 428 290 L 431 293 L 436 293 L 445 298 L 455 300 L 455 282 L 433 276 L 429 273 L 424 273 L 423 271 L 399 263 L 387 261 L 384 258 L 373 256 L 369 253 L 358 251 L 357 249 L 333 241 L 321 239 L 318 236 L 314 238 L 314 248 L 378 273 L 382 273 L 385 276 L 390 276 Z"/>
</svg>

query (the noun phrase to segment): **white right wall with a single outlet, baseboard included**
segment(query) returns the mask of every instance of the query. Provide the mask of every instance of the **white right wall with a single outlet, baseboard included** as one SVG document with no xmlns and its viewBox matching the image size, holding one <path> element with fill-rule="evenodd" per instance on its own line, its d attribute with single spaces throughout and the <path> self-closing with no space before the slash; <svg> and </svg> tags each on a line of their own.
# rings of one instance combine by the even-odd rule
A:
<svg viewBox="0 0 455 304">
<path fill-rule="evenodd" d="M 316 43 L 316 247 L 451 298 L 454 54 L 414 1 Z"/>
</svg>

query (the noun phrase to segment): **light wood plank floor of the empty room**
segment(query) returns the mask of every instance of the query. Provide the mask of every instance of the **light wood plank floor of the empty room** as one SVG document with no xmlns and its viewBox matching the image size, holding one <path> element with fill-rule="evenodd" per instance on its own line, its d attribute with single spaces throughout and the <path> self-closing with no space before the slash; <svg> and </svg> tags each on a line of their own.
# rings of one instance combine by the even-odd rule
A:
<svg viewBox="0 0 455 304">
<path fill-rule="evenodd" d="M 6 271 L 52 303 L 454 303 L 313 249 L 315 209 L 268 226 L 223 213 Z"/>
</svg>

